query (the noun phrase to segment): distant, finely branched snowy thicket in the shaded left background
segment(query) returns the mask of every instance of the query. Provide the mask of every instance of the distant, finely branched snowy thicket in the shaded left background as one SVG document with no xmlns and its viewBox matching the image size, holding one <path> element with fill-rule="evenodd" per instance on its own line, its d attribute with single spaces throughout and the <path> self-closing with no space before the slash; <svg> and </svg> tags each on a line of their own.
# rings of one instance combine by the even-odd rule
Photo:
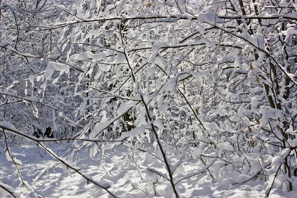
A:
<svg viewBox="0 0 297 198">
<path fill-rule="evenodd" d="M 55 106 L 55 110 L 72 112 L 75 108 L 76 99 L 68 100 L 67 105 L 60 96 L 59 87 L 68 81 L 68 75 L 64 75 L 63 81 L 46 84 L 44 82 L 44 71 L 49 63 L 43 58 L 57 50 L 54 43 L 59 35 L 58 30 L 52 29 L 52 24 L 67 17 L 67 13 L 58 5 L 67 4 L 58 0 L 2 0 L 1 1 L 1 34 L 0 41 L 11 43 L 11 50 L 0 51 L 1 91 L 10 91 L 11 98 L 1 98 L 2 109 L 0 120 L 9 121 L 18 129 L 31 134 L 31 126 L 34 125 L 45 131 L 47 126 L 53 125 L 52 109 L 45 108 L 43 104 Z M 30 57 L 27 56 L 30 54 Z M 55 59 L 55 57 L 50 58 Z M 47 93 L 43 88 L 47 87 Z M 57 94 L 58 93 L 58 94 Z M 1 95 L 2 96 L 2 95 Z M 20 103 L 25 97 L 27 102 Z M 31 100 L 37 108 L 30 105 Z M 26 101 L 26 99 L 24 99 Z M 31 103 L 33 104 L 33 103 Z M 36 117 L 38 119 L 36 119 Z M 57 116 L 59 117 L 59 116 Z M 64 122 L 57 118 L 56 122 Z M 65 125 L 52 126 L 55 131 L 62 135 Z M 60 136 L 59 136 L 60 137 Z M 69 136 L 68 136 L 69 137 Z M 19 140 L 17 141 L 19 144 Z"/>
</svg>

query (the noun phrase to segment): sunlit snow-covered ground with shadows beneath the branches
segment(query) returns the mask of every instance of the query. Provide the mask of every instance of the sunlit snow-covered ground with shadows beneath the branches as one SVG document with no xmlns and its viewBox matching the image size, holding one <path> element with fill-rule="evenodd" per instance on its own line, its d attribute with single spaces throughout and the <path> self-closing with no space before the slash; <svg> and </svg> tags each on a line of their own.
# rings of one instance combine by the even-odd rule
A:
<svg viewBox="0 0 297 198">
<path fill-rule="evenodd" d="M 68 146 L 48 145 L 55 153 L 62 155 Z M 116 150 L 116 152 L 114 152 Z M 0 182 L 15 189 L 20 198 L 35 197 L 28 189 L 19 186 L 15 167 L 12 161 L 7 161 L 3 149 L 0 150 Z M 67 171 L 57 164 L 49 154 L 45 154 L 38 146 L 22 146 L 11 148 L 14 156 L 21 160 L 20 172 L 31 188 L 43 198 L 107 198 L 108 195 L 95 188 L 77 174 Z M 76 166 L 82 172 L 92 177 L 100 184 L 108 184 L 109 190 L 121 198 L 165 197 L 172 198 L 169 183 L 159 180 L 154 186 L 148 181 L 151 178 L 143 174 L 154 160 L 144 160 L 145 154 L 127 155 L 126 148 L 114 148 L 97 153 L 90 158 L 88 150 L 81 150 Z M 133 157 L 132 157 L 133 156 Z M 136 168 L 136 166 L 138 168 Z M 146 178 L 145 178 L 146 177 Z M 265 196 L 262 181 L 251 181 L 242 186 L 219 185 L 205 178 L 191 178 L 181 182 L 177 189 L 184 198 L 263 198 Z M 2 193 L 2 195 L 1 195 Z M 280 193 L 280 192 L 279 192 Z M 279 194 L 273 191 L 270 198 L 295 198 L 296 191 L 289 194 Z M 5 197 L 0 191 L 0 198 Z"/>
</svg>

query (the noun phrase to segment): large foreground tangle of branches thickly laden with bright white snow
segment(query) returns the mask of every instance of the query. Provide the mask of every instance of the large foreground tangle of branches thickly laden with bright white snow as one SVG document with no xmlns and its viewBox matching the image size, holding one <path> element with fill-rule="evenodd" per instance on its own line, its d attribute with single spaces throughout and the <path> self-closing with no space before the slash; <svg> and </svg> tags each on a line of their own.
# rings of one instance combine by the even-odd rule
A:
<svg viewBox="0 0 297 198">
<path fill-rule="evenodd" d="M 1 101 L 29 101 L 35 113 L 34 104 L 51 102 L 51 118 L 58 112 L 76 126 L 73 152 L 88 147 L 96 157 L 121 144 L 133 158 L 145 152 L 155 160 L 135 160 L 144 195 L 158 196 L 151 185 L 165 182 L 165 190 L 180 197 L 184 181 L 205 177 L 221 184 L 262 180 L 267 197 L 273 188 L 289 192 L 297 168 L 296 6 L 294 0 L 60 5 L 65 21 L 41 28 L 61 33 L 55 50 L 43 57 L 43 71 L 26 77 L 32 85 L 42 81 L 44 100 L 26 99 L 10 86 L 0 87 Z M 0 47 L 26 64 L 41 61 L 7 42 Z M 19 127 L 2 122 L 0 128 L 27 137 Z M 53 154 L 43 140 L 29 139 Z M 121 197 L 69 159 L 54 157 L 103 189 L 97 196 Z"/>
</svg>

